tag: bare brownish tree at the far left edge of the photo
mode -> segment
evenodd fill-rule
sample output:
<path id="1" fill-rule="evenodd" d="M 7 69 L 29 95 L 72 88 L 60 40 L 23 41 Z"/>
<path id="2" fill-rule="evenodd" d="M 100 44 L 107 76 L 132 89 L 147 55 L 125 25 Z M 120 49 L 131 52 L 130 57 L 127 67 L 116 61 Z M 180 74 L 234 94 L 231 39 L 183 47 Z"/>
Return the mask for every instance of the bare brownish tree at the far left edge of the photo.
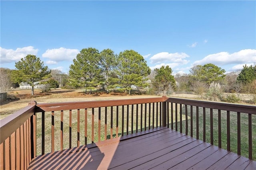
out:
<path id="1" fill-rule="evenodd" d="M 8 92 L 11 86 L 11 70 L 6 68 L 0 68 L 0 93 Z"/>

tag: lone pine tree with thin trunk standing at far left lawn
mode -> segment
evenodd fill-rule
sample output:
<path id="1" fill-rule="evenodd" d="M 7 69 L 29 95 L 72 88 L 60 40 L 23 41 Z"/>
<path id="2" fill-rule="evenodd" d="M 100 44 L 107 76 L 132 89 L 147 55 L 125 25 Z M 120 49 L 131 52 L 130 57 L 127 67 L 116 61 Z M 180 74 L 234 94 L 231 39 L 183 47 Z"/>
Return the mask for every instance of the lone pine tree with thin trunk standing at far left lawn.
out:
<path id="1" fill-rule="evenodd" d="M 40 60 L 36 55 L 27 55 L 21 61 L 15 63 L 16 79 L 20 82 L 28 83 L 32 86 L 31 95 L 34 96 L 34 83 L 50 77 L 51 71 L 47 66 L 44 66 L 44 62 Z"/>

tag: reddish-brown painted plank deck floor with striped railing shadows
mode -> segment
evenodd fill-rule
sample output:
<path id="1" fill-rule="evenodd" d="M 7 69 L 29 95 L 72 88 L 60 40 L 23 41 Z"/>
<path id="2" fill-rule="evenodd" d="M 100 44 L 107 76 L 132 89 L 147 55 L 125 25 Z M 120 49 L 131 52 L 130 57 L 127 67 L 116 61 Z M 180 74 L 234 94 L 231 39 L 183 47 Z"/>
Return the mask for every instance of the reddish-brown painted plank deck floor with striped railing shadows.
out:
<path id="1" fill-rule="evenodd" d="M 169 128 L 44 154 L 28 169 L 256 169 L 249 160 Z"/>

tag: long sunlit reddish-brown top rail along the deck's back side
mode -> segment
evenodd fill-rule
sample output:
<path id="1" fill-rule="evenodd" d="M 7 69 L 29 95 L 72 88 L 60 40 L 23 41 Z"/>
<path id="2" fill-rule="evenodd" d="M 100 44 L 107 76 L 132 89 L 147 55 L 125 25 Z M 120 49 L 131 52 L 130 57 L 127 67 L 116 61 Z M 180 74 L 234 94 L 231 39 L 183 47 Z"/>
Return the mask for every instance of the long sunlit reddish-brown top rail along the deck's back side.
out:
<path id="1" fill-rule="evenodd" d="M 72 109 L 88 109 L 96 107 L 110 107 L 120 105 L 133 105 L 141 103 L 163 102 L 164 97 L 143 98 L 143 99 L 119 99 L 119 100 L 102 100 L 102 101 L 79 101 L 79 102 L 62 102 L 62 103 L 41 103 L 36 105 L 36 112 L 42 111 L 64 111 Z"/>

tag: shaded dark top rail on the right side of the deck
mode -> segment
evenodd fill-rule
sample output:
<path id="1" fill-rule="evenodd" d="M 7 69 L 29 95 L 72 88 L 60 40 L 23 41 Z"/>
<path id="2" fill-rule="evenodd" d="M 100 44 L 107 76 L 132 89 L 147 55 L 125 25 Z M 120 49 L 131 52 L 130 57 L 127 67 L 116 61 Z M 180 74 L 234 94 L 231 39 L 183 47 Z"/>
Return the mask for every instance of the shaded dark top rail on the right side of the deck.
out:
<path id="1" fill-rule="evenodd" d="M 201 101 L 201 100 L 194 100 L 194 99 L 182 99 L 182 98 L 172 98 L 172 97 L 166 97 L 165 101 L 180 103 L 184 105 L 192 105 L 192 106 L 205 107 L 210 109 L 220 109 L 225 111 L 234 111 L 234 112 L 240 112 L 240 113 L 250 113 L 250 114 L 256 115 L 256 106 L 254 105 L 239 105 L 234 103 Z"/>

